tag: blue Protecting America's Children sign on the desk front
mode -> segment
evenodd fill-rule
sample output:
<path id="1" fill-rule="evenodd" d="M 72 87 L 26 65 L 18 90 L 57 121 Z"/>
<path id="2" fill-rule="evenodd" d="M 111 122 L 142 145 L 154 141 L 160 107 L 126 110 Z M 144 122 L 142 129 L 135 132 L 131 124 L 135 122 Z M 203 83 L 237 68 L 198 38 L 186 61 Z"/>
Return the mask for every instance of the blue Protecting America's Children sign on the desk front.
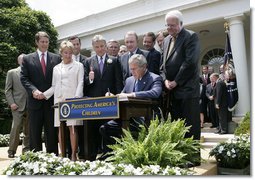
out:
<path id="1" fill-rule="evenodd" d="M 119 118 L 117 96 L 70 99 L 59 102 L 60 120 L 91 120 Z"/>

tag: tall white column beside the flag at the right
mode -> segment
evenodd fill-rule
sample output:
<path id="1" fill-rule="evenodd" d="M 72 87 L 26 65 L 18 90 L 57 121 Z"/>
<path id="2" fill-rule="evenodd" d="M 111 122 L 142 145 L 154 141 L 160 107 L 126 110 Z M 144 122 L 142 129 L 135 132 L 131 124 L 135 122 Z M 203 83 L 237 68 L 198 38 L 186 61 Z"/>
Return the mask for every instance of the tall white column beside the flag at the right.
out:
<path id="1" fill-rule="evenodd" d="M 250 88 L 246 59 L 245 36 L 243 28 L 243 14 L 225 18 L 229 23 L 229 36 L 233 61 L 236 70 L 239 100 L 235 109 L 235 116 L 244 116 L 250 111 Z"/>

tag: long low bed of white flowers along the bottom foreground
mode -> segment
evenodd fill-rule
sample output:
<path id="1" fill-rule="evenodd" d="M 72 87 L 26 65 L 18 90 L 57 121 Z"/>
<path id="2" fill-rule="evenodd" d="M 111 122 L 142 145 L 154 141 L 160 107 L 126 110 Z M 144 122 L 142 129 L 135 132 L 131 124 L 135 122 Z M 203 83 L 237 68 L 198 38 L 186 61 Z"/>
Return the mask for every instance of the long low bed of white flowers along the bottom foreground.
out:
<path id="1" fill-rule="evenodd" d="M 192 175 L 179 167 L 161 168 L 158 165 L 134 167 L 104 161 L 73 162 L 45 152 L 26 152 L 4 171 L 4 175 Z"/>

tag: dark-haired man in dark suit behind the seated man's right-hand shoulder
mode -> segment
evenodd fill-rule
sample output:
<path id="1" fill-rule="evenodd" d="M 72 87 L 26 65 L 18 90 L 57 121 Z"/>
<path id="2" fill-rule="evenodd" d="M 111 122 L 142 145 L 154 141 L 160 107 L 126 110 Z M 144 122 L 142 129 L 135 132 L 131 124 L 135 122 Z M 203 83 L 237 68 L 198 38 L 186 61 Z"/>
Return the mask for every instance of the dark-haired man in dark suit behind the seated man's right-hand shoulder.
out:
<path id="1" fill-rule="evenodd" d="M 143 36 L 143 46 L 149 51 L 146 60 L 148 70 L 155 74 L 159 74 L 159 64 L 161 61 L 161 54 L 155 48 L 156 35 L 153 32 L 147 32 Z"/>

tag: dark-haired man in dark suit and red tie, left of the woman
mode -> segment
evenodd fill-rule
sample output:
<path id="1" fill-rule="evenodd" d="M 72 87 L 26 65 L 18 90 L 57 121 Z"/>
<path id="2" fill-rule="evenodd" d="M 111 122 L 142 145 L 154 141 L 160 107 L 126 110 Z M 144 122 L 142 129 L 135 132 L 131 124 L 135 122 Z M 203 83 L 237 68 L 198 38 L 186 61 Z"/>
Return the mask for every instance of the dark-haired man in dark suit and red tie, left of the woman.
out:
<path id="1" fill-rule="evenodd" d="M 24 56 L 20 80 L 28 93 L 30 150 L 42 151 L 42 129 L 48 153 L 58 155 L 57 129 L 54 127 L 53 97 L 40 99 L 40 94 L 51 87 L 53 67 L 61 62 L 60 56 L 48 52 L 46 32 L 35 35 L 37 51 Z"/>

